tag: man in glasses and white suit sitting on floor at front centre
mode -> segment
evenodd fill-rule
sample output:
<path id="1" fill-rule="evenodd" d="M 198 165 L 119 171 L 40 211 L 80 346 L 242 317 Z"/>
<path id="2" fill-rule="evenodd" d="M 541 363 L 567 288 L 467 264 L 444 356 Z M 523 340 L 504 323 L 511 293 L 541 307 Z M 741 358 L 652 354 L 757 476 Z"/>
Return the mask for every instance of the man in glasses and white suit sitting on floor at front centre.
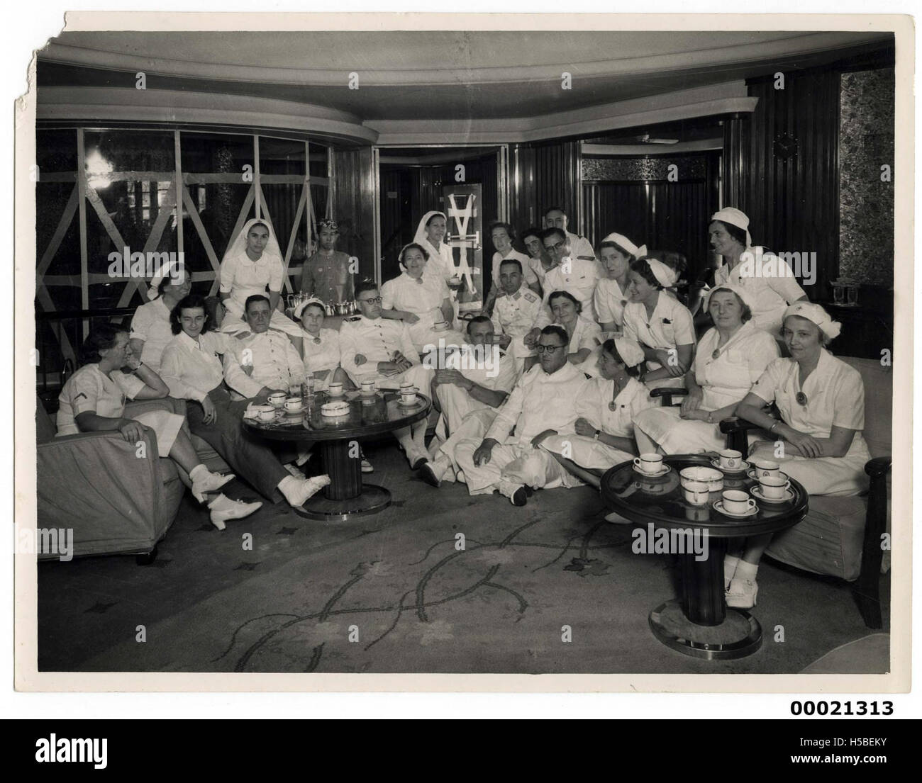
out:
<path id="1" fill-rule="evenodd" d="M 471 495 L 498 490 L 514 506 L 525 506 L 528 487 L 576 486 L 548 451 L 539 449 L 550 435 L 575 433 L 576 400 L 585 375 L 567 361 L 569 338 L 560 326 L 541 330 L 538 364 L 515 384 L 481 442 L 464 440 L 455 458 Z M 515 434 L 510 435 L 515 428 Z"/>

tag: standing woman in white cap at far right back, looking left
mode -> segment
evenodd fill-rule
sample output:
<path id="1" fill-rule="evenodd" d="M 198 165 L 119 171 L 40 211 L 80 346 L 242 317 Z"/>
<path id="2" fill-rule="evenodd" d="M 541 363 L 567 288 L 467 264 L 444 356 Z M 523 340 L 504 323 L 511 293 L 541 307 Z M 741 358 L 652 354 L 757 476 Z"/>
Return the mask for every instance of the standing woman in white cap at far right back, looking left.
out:
<path id="1" fill-rule="evenodd" d="M 777 338 L 786 306 L 809 298 L 783 259 L 752 247 L 749 222 L 749 217 L 733 206 L 711 216 L 711 247 L 724 258 L 714 283 L 715 287 L 732 283 L 746 288 L 752 298 L 753 325 Z"/>

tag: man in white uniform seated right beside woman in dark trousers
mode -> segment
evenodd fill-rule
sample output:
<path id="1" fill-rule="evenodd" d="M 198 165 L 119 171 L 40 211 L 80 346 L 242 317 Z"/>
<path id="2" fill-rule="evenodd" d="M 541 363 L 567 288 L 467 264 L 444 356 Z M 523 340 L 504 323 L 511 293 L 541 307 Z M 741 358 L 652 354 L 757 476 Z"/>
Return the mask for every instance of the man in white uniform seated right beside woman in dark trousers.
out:
<path id="1" fill-rule="evenodd" d="M 224 380 L 231 396 L 265 400 L 272 392 L 288 394 L 291 386 L 301 386 L 304 363 L 288 335 L 270 328 L 268 297 L 248 297 L 243 317 L 250 329 L 234 334 L 233 356 L 224 356 Z"/>

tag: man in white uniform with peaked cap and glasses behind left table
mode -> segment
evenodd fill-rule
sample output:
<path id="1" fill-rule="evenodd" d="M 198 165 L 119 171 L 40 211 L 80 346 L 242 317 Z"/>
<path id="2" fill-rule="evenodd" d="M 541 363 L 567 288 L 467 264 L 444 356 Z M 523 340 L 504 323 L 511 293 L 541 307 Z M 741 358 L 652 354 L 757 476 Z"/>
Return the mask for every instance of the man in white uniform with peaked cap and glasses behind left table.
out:
<path id="1" fill-rule="evenodd" d="M 362 380 L 374 380 L 378 389 L 399 389 L 402 380 L 409 380 L 423 394 L 429 391 L 432 370 L 420 364 L 420 355 L 413 347 L 403 321 L 388 321 L 381 317 L 381 294 L 372 280 L 364 280 L 355 288 L 361 316 L 356 321 L 344 321 L 339 329 L 339 350 L 342 368 L 357 386 Z M 407 453 L 413 470 L 429 461 L 426 455 L 426 420 L 411 427 L 394 431 L 397 441 Z"/>

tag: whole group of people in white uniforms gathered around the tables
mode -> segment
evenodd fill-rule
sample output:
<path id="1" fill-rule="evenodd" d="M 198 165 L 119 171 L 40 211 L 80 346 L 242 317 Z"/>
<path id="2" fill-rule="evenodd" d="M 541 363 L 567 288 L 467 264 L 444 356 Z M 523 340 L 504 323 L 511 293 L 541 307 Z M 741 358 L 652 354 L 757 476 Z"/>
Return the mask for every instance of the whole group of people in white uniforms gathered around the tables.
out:
<path id="1" fill-rule="evenodd" d="M 321 390 L 363 380 L 396 389 L 409 380 L 430 393 L 436 437 L 427 445 L 426 422 L 395 433 L 409 466 L 433 487 L 461 481 L 471 495 L 499 491 L 515 506 L 538 488 L 598 485 L 638 453 L 720 450 L 719 423 L 731 415 L 762 427 L 768 439 L 753 442 L 753 456 L 767 450 L 811 495 L 866 488 L 861 378 L 826 348 L 839 324 L 780 259 L 774 276 L 748 273 L 745 260 L 767 251 L 752 247 L 739 209 L 721 209 L 709 224 L 724 265 L 703 300 L 714 325 L 700 340 L 676 296 L 677 254 L 617 233 L 593 249 L 557 207 L 545 228 L 523 232 L 527 252 L 515 250 L 511 225 L 491 226 L 497 250 L 484 314 L 461 320 L 455 291 L 470 284 L 470 270 L 455 265 L 446 228 L 443 213 L 423 216 L 400 251 L 400 275 L 356 284 L 360 314 L 337 331 L 325 327 L 319 298 L 301 302 L 292 318 L 279 309 L 278 241 L 268 221 L 248 221 L 221 263 L 224 317 L 190 293 L 187 277 L 152 281 L 130 334 L 90 334 L 90 360 L 61 392 L 59 432 L 118 429 L 134 438 L 151 427 L 219 526 L 261 504 L 216 494 L 230 479 L 197 462 L 186 429 L 263 497 L 301 505 L 329 479 L 305 478 L 308 453 L 270 450 L 244 434 L 241 420 L 249 403 L 308 376 Z M 432 360 L 444 346 L 454 351 Z M 659 406 L 650 392 L 663 386 L 680 405 Z M 184 421 L 122 415 L 126 397 L 168 394 L 186 401 Z M 765 413 L 769 403 L 781 419 Z M 729 605 L 754 604 L 768 540 L 740 541 L 727 555 Z"/>

